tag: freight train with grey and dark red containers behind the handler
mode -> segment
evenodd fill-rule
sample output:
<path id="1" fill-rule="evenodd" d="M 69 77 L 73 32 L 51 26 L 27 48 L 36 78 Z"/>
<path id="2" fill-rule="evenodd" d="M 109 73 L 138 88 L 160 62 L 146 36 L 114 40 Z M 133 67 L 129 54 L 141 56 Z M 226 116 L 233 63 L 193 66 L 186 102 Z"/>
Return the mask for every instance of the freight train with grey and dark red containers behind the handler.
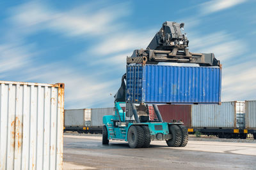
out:
<path id="1" fill-rule="evenodd" d="M 253 134 L 256 139 L 256 101 L 231 101 L 220 105 L 164 104 L 158 105 L 158 108 L 164 122 L 183 122 L 189 134 L 200 132 L 219 138 L 241 139 Z M 114 108 L 65 110 L 64 132 L 102 133 L 102 117 L 114 114 Z M 150 120 L 157 118 L 150 105 L 147 114 Z"/>

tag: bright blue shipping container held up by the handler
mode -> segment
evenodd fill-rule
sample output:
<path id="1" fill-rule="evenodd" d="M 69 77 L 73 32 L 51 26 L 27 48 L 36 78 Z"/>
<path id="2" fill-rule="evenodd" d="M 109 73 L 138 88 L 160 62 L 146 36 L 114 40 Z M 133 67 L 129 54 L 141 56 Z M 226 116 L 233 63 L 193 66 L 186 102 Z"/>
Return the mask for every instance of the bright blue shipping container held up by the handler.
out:
<path id="1" fill-rule="evenodd" d="M 130 103 L 218 103 L 220 67 L 127 66 L 126 101 Z"/>

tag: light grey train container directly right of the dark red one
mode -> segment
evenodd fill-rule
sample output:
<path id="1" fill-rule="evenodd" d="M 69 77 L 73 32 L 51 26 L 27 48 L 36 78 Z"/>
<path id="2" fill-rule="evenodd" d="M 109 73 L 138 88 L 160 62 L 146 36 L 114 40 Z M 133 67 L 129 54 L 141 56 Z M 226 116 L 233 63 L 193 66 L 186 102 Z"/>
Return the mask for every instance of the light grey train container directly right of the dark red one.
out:
<path id="1" fill-rule="evenodd" d="M 191 106 L 191 127 L 236 128 L 236 102 Z"/>

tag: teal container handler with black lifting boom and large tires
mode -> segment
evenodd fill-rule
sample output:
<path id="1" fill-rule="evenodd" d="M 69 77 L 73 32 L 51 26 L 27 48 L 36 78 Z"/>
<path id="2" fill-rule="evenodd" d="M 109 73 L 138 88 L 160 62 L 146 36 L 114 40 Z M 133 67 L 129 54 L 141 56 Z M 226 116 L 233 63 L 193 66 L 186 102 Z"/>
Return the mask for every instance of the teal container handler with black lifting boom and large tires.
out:
<path id="1" fill-rule="evenodd" d="M 158 64 L 159 62 L 193 63 L 199 66 L 221 67 L 220 61 L 213 53 L 191 53 L 188 49 L 188 38 L 183 33 L 184 23 L 164 22 L 146 50 L 134 50 L 127 57 L 129 64 Z M 157 105 L 153 104 L 157 119 L 149 120 L 146 115 L 138 115 L 134 103 L 126 100 L 126 75 L 115 95 L 115 115 L 103 117 L 102 144 L 107 145 L 110 139 L 127 141 L 131 148 L 148 148 L 151 141 L 166 141 L 168 146 L 184 147 L 188 143 L 188 130 L 182 122 L 163 122 Z M 126 112 L 120 104 L 126 104 Z M 150 103 L 147 103 L 150 104 Z M 141 106 L 147 110 L 147 104 Z M 167 103 L 168 104 L 168 103 Z"/>

